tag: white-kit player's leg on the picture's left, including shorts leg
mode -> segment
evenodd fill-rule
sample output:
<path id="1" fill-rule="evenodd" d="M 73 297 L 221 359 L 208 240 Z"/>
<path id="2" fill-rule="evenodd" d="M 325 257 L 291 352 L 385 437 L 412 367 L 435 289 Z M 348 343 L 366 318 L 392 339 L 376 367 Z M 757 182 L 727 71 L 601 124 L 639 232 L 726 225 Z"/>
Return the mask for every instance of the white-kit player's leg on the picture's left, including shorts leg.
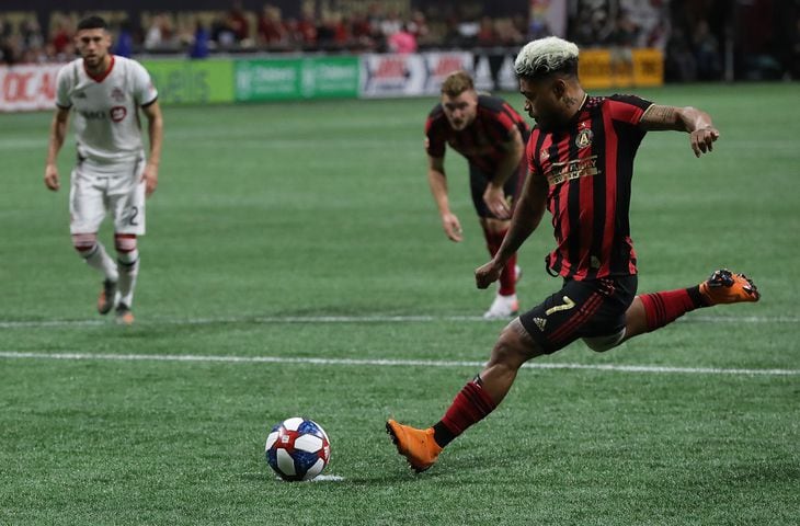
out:
<path id="1" fill-rule="evenodd" d="M 98 240 L 100 224 L 105 217 L 102 180 L 83 168 L 76 168 L 70 176 L 69 231 L 72 245 L 87 264 L 103 274 L 103 286 L 98 297 L 98 312 L 107 313 L 114 306 L 118 273 L 114 260 Z"/>

